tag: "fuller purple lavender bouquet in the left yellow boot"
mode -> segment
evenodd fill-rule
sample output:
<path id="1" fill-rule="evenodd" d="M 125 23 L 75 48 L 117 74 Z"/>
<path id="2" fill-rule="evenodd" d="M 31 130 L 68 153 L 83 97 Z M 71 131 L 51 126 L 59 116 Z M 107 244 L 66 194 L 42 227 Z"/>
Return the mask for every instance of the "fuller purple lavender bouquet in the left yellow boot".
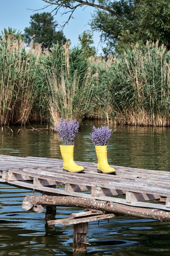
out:
<path id="1" fill-rule="evenodd" d="M 79 130 L 79 122 L 77 119 L 63 119 L 60 118 L 60 123 L 54 124 L 55 131 L 60 136 L 59 141 L 62 141 L 63 145 L 74 145 L 75 137 Z"/>

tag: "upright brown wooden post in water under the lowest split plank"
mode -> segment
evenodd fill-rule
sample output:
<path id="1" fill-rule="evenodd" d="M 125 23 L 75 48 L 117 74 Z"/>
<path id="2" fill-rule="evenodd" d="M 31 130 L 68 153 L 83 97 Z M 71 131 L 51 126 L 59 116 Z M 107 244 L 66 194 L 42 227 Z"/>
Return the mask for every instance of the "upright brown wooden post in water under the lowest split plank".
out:
<path id="1" fill-rule="evenodd" d="M 73 256 L 85 256 L 86 255 L 87 232 L 88 232 L 88 222 L 74 224 Z"/>

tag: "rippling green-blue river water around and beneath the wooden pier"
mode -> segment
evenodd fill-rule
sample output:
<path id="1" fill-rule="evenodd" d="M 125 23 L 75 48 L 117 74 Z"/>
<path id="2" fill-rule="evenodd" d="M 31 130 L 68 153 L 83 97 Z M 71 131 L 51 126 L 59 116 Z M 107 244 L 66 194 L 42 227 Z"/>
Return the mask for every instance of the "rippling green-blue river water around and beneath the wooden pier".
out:
<path id="1" fill-rule="evenodd" d="M 77 161 L 96 162 L 90 137 L 96 121 L 84 121 L 75 141 Z M 58 135 L 47 124 L 7 127 L 0 131 L 0 154 L 61 159 Z M 49 125 L 48 125 L 49 126 Z M 41 128 L 41 130 L 36 130 Z M 108 162 L 117 166 L 170 171 L 170 128 L 113 126 L 108 143 Z M 35 194 L 39 194 L 36 193 Z M 22 209 L 22 201 L 32 191 L 0 184 L 0 255 L 70 256 L 73 226 L 45 228 L 45 213 Z M 82 211 L 77 207 L 57 207 L 56 218 Z M 88 256 L 169 256 L 170 222 L 122 216 L 88 225 Z"/>

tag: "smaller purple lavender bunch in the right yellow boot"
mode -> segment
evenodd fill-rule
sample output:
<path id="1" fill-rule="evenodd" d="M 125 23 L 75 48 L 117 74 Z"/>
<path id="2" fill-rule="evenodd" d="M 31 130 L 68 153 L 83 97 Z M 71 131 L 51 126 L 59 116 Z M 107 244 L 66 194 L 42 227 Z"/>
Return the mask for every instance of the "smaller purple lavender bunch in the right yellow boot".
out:
<path id="1" fill-rule="evenodd" d="M 109 129 L 108 126 L 100 126 L 100 128 L 96 128 L 93 126 L 93 132 L 91 133 L 91 140 L 95 146 L 106 146 L 110 136 L 112 133 L 112 129 Z"/>

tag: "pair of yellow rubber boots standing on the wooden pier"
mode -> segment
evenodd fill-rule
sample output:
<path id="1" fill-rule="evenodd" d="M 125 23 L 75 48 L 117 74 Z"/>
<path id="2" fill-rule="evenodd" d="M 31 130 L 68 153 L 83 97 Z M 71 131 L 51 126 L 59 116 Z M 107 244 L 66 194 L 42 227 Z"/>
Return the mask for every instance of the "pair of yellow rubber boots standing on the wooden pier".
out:
<path id="1" fill-rule="evenodd" d="M 116 170 L 109 166 L 107 159 L 107 146 L 95 146 L 97 155 L 97 171 L 98 173 L 115 174 Z M 60 145 L 60 151 L 63 159 L 63 171 L 71 173 L 80 173 L 84 171 L 83 166 L 79 166 L 74 162 L 74 145 L 63 146 Z"/>

